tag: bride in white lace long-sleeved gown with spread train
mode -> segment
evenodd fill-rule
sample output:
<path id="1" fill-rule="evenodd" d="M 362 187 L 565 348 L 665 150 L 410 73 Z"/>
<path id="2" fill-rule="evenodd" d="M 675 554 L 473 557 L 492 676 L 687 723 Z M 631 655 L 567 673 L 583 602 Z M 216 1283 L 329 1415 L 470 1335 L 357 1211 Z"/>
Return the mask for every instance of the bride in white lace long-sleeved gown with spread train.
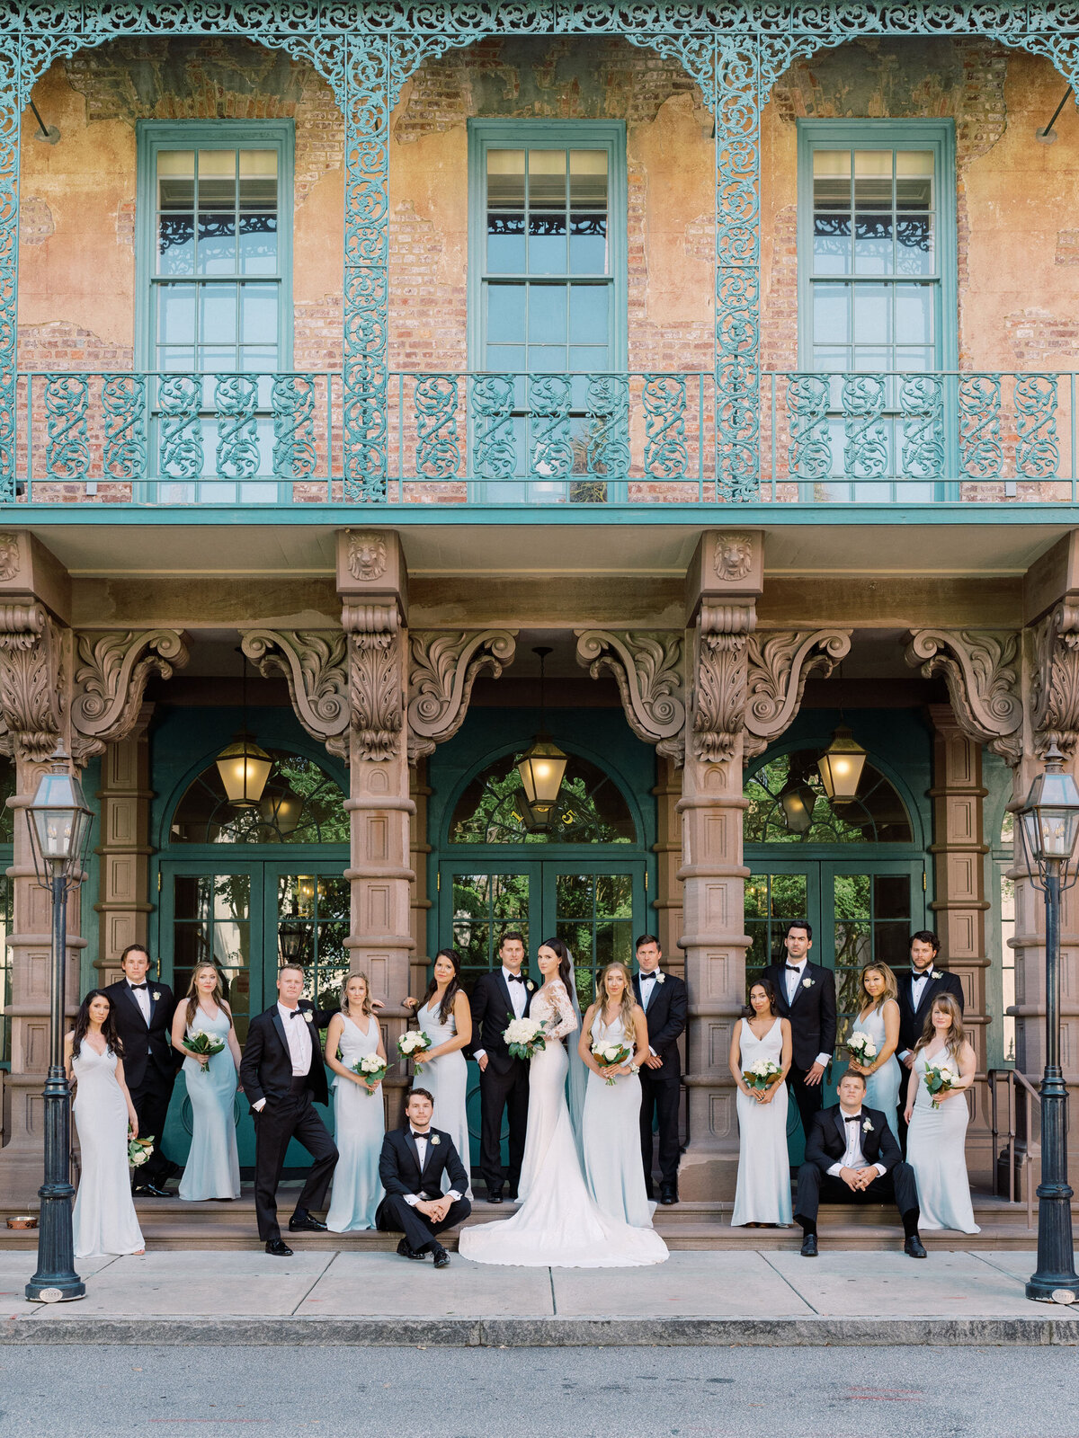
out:
<path id="1" fill-rule="evenodd" d="M 476 1263 L 528 1268 L 637 1268 L 663 1263 L 668 1250 L 659 1234 L 607 1218 L 588 1194 L 565 1102 L 568 1058 L 563 1040 L 580 1025 L 570 998 L 570 952 L 560 939 L 548 939 L 540 946 L 538 963 L 544 985 L 532 997 L 529 1018 L 542 1022 L 547 1045 L 528 1071 L 524 1201 L 512 1218 L 463 1228 L 460 1254 Z"/>

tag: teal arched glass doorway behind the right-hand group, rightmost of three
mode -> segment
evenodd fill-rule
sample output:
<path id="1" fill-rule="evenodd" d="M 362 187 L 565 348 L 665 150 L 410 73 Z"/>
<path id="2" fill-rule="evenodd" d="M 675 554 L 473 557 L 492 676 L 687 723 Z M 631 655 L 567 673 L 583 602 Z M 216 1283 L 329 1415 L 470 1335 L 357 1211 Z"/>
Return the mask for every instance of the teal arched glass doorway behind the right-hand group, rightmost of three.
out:
<path id="1" fill-rule="evenodd" d="M 901 778 L 875 755 L 857 798 L 833 804 L 817 772 L 819 748 L 770 751 L 745 781 L 747 974 L 783 955 L 790 919 L 813 926 L 813 959 L 836 971 L 842 1045 L 856 1015 L 859 972 L 870 959 L 903 968 L 908 939 L 927 926 L 921 818 Z M 806 785 L 809 825 L 790 827 L 781 795 Z M 801 825 L 798 825 L 801 827 Z M 842 1071 L 842 1064 L 833 1066 Z M 797 1109 L 791 1104 L 791 1129 Z M 800 1142 L 798 1142 L 800 1149 Z M 793 1153 L 793 1158 L 797 1155 Z"/>

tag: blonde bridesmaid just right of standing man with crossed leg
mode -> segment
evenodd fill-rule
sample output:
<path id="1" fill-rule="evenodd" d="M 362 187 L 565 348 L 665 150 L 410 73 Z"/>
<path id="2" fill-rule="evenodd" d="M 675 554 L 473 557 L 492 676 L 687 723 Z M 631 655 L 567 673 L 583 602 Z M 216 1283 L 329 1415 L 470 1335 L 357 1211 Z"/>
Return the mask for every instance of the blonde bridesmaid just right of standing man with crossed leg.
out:
<path id="1" fill-rule="evenodd" d="M 368 1054 L 386 1060 L 381 1024 L 371 1012 L 365 974 L 350 974 L 341 995 L 341 1012 L 327 1031 L 325 1058 L 334 1078 L 334 1142 L 341 1155 L 334 1169 L 327 1228 L 348 1234 L 375 1227 L 375 1209 L 383 1201 L 378 1155 L 386 1133 L 386 1104 L 381 1080 L 368 1083 L 352 1068 Z"/>

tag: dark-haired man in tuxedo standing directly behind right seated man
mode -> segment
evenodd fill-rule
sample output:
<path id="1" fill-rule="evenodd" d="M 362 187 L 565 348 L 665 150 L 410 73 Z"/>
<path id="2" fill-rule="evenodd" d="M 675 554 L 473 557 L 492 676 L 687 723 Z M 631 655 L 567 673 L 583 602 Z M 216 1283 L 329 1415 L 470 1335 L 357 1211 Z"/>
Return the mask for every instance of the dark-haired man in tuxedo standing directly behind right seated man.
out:
<path id="1" fill-rule="evenodd" d="M 775 989 L 780 1018 L 790 1020 L 794 1063 L 787 1086 L 801 1114 L 801 1129 L 809 1139 L 813 1117 L 824 1099 L 824 1070 L 836 1047 L 836 975 L 810 963 L 813 929 L 804 919 L 791 919 L 784 939 L 786 963 L 771 963 L 762 974 Z"/>

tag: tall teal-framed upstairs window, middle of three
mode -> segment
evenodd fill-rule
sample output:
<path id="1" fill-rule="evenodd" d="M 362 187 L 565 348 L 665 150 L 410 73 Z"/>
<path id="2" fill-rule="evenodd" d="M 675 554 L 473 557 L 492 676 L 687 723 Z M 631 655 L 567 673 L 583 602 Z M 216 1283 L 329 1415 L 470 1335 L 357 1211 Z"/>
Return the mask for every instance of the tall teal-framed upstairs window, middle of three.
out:
<path id="1" fill-rule="evenodd" d="M 473 473 L 496 502 L 609 498 L 588 377 L 626 364 L 624 127 L 470 121 L 469 145 Z"/>

